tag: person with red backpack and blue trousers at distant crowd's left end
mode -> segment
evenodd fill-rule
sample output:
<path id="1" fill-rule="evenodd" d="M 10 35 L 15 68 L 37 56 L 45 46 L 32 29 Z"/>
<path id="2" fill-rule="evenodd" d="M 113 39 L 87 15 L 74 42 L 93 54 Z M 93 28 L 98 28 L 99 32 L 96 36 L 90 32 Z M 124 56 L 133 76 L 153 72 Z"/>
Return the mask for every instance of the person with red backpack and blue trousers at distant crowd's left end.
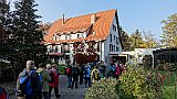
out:
<path id="1" fill-rule="evenodd" d="M 72 66 L 71 65 L 66 68 L 65 74 L 67 76 L 67 88 L 71 88 L 72 86 Z"/>

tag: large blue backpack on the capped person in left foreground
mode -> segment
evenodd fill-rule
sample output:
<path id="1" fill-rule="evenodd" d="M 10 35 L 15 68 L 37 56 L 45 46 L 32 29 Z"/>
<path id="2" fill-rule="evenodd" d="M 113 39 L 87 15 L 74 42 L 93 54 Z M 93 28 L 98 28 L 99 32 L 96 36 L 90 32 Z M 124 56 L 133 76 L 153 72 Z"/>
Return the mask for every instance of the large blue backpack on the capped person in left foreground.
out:
<path id="1" fill-rule="evenodd" d="M 24 76 L 19 77 L 19 81 L 20 81 L 19 90 L 21 91 L 19 95 L 32 96 L 32 92 L 33 92 L 32 82 L 31 82 L 32 73 L 34 73 L 34 70 L 30 70 L 30 73 L 27 73 L 25 70 L 22 72 Z"/>

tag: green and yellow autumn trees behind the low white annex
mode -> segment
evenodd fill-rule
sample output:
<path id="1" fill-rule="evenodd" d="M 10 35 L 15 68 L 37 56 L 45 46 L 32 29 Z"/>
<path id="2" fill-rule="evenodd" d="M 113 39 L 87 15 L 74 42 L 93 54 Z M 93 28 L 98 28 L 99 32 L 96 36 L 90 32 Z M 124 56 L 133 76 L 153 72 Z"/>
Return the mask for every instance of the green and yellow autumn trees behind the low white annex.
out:
<path id="1" fill-rule="evenodd" d="M 150 31 L 136 30 L 131 35 L 125 31 L 121 32 L 123 51 L 134 51 L 135 48 L 155 48 L 159 46 L 158 40 Z"/>

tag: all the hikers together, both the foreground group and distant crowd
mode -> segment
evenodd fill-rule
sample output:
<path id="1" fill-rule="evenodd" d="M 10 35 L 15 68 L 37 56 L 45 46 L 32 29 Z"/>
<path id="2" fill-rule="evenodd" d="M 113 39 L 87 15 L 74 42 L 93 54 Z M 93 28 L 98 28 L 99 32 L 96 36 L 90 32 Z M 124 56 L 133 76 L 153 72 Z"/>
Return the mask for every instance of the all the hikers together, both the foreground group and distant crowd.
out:
<path id="1" fill-rule="evenodd" d="M 34 66 L 34 61 L 28 61 L 25 68 L 19 74 L 15 91 L 18 99 L 50 99 L 52 89 L 54 89 L 55 97 L 60 98 L 60 70 L 56 65 L 40 64 L 38 67 Z M 125 69 L 125 65 L 118 61 L 110 65 L 104 64 L 103 61 L 85 65 L 70 64 L 65 68 L 67 87 L 71 89 L 79 88 L 79 84 L 84 84 L 85 88 L 92 87 L 92 84 L 104 77 L 118 79 Z M 3 92 L 2 89 L 0 89 L 0 92 Z M 6 97 L 4 94 L 1 97 Z"/>

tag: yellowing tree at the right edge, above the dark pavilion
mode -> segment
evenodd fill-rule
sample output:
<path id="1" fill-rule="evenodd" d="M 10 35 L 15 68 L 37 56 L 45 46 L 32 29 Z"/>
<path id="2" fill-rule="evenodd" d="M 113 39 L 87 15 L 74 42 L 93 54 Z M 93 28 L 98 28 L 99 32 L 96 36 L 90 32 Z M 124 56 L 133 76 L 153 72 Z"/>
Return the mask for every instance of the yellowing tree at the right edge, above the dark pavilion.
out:
<path id="1" fill-rule="evenodd" d="M 163 20 L 162 23 L 164 33 L 160 42 L 166 47 L 177 47 L 177 13 Z"/>

